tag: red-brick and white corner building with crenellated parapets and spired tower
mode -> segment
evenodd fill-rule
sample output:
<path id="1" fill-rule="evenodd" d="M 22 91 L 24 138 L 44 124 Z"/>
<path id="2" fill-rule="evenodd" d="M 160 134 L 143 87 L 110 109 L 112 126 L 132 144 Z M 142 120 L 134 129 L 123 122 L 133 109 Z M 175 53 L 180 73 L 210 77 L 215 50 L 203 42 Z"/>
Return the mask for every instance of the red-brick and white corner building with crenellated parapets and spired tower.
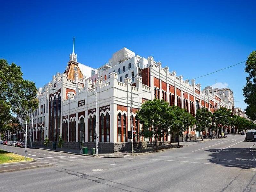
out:
<path id="1" fill-rule="evenodd" d="M 139 136 L 142 125 L 135 119 L 136 112 L 147 100 L 163 99 L 170 105 L 186 109 L 193 116 L 199 108 L 207 108 L 212 113 L 220 106 L 234 108 L 233 102 L 222 100 L 211 87 L 202 90 L 195 80 L 190 84 L 175 71 L 170 72 L 169 67 L 162 67 L 162 63 L 154 61 L 153 57 L 143 58 L 127 48 L 114 53 L 109 62 L 98 69 L 78 63 L 73 52 L 65 72 L 54 75 L 51 82 L 38 89 L 36 97 L 39 107 L 30 114 L 29 124 L 31 140 L 36 141 L 36 145 L 43 145 L 46 136 L 51 142 L 58 142 L 61 135 L 65 141 L 63 148 L 92 148 L 95 147 L 97 127 L 99 153 L 131 148 L 128 140 L 131 119 L 132 129 L 136 131 L 135 148 L 149 145 L 152 140 Z M 19 139 L 22 139 L 25 125 L 22 127 L 16 133 Z M 204 132 L 209 133 L 210 130 Z M 199 136 L 200 133 L 191 127 L 182 137 L 173 132 L 159 139 L 176 142 Z"/>

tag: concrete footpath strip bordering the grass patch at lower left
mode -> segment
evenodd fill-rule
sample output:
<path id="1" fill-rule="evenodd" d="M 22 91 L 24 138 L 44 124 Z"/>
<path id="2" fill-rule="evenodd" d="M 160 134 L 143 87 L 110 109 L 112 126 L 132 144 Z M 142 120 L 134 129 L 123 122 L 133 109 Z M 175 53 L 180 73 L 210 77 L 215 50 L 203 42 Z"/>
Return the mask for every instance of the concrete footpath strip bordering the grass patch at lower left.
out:
<path id="1" fill-rule="evenodd" d="M 49 166 L 52 166 L 52 164 L 41 163 L 41 162 L 17 162 L 17 163 L 12 163 L 12 164 L 0 165 L 0 173 L 20 171 L 20 170 L 25 170 L 25 169 L 35 169 L 35 168 L 49 167 Z"/>

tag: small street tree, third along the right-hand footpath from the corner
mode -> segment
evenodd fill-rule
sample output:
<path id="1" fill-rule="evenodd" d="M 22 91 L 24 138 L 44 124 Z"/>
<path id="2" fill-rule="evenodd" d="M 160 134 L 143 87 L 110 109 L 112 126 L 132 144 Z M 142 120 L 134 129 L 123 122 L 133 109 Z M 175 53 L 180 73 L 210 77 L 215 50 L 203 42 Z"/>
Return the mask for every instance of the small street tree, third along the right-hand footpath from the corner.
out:
<path id="1" fill-rule="evenodd" d="M 201 139 L 203 141 L 203 131 L 211 127 L 212 113 L 206 108 L 198 109 L 196 111 L 196 130 L 201 132 Z"/>

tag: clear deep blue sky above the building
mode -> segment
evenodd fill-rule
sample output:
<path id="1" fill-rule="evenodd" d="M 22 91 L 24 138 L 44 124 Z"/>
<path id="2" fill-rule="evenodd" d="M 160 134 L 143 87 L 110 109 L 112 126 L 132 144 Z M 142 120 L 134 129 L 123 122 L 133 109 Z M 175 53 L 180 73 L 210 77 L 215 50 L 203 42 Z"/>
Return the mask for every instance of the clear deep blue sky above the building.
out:
<path id="1" fill-rule="evenodd" d="M 76 37 L 80 63 L 97 68 L 117 50 L 161 61 L 192 79 L 247 59 L 256 50 L 256 1 L 4 1 L 0 58 L 36 86 L 64 72 Z M 244 100 L 244 64 L 196 79 Z M 244 102 L 236 102 L 244 109 Z"/>

